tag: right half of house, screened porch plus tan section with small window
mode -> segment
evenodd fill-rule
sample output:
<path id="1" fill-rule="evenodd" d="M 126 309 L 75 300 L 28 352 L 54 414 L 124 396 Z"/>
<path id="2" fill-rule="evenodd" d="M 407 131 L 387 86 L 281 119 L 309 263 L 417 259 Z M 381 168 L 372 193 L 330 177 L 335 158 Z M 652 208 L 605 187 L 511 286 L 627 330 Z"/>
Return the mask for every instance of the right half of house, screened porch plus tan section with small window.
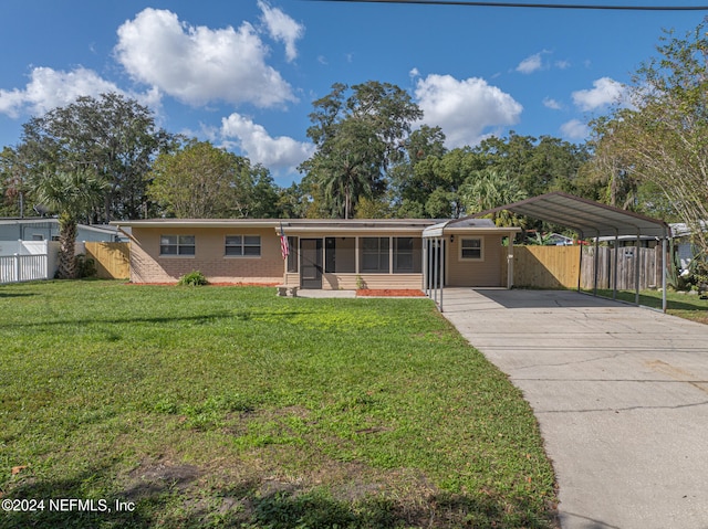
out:
<path id="1" fill-rule="evenodd" d="M 284 229 L 290 252 L 283 284 L 300 292 L 511 286 L 513 245 L 504 251 L 503 242 L 513 241 L 518 228 L 487 219 L 431 222 L 292 222 Z"/>

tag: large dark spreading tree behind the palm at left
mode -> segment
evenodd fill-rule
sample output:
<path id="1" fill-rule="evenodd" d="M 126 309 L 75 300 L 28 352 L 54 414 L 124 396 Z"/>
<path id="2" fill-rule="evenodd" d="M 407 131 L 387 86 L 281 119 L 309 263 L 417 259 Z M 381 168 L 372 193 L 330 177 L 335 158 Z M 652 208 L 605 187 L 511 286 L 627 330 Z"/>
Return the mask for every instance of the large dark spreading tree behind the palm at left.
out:
<path id="1" fill-rule="evenodd" d="M 86 169 L 101 176 L 108 183 L 102 215 L 107 222 L 146 214 L 146 174 L 173 142 L 147 107 L 110 93 L 32 117 L 18 149 L 35 174 Z"/>

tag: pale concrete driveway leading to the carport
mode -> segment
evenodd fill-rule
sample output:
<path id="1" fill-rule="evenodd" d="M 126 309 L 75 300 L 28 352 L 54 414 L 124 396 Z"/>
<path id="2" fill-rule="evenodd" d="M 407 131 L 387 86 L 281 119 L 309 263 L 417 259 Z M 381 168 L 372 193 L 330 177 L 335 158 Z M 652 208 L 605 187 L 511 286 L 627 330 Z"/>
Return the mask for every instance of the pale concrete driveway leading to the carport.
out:
<path id="1" fill-rule="evenodd" d="M 445 289 L 535 412 L 566 529 L 708 528 L 708 326 L 575 292 Z"/>

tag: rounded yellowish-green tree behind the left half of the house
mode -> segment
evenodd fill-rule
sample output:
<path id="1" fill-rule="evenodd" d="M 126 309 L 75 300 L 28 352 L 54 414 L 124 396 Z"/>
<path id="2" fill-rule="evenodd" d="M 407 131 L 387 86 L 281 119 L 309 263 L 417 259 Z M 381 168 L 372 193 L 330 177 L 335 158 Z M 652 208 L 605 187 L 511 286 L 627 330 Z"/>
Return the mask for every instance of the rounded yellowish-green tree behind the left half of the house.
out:
<path id="1" fill-rule="evenodd" d="M 247 158 L 190 140 L 162 154 L 149 173 L 148 195 L 178 219 L 278 216 L 279 194 L 268 170 Z"/>

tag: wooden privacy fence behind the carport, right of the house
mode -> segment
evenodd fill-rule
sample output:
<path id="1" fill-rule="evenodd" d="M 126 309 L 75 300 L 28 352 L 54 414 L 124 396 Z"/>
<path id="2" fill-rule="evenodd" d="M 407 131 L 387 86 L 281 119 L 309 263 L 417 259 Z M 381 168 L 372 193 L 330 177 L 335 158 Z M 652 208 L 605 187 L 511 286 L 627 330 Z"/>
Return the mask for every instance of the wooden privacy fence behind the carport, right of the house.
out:
<path id="1" fill-rule="evenodd" d="M 615 248 L 583 246 L 581 288 L 593 288 L 597 250 L 597 288 L 613 287 Z M 639 250 L 639 288 L 662 285 L 662 247 Z M 577 288 L 581 246 L 514 246 L 513 284 L 532 288 Z M 617 289 L 634 290 L 636 252 L 633 246 L 617 248 Z"/>

